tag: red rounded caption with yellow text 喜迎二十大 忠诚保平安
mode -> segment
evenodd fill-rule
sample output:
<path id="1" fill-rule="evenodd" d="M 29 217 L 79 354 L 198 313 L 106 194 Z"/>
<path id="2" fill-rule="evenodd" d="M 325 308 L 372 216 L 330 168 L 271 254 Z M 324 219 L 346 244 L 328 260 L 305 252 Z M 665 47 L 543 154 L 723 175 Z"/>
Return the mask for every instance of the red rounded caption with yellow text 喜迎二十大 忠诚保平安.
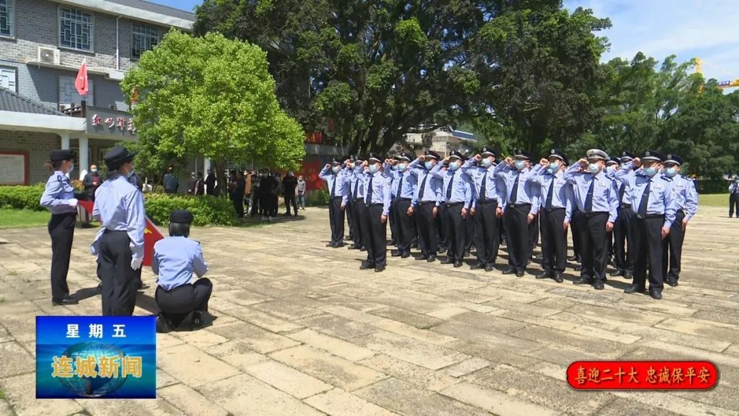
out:
<path id="1" fill-rule="evenodd" d="M 706 390 L 718 370 L 710 361 L 575 361 L 567 382 L 584 390 Z"/>

